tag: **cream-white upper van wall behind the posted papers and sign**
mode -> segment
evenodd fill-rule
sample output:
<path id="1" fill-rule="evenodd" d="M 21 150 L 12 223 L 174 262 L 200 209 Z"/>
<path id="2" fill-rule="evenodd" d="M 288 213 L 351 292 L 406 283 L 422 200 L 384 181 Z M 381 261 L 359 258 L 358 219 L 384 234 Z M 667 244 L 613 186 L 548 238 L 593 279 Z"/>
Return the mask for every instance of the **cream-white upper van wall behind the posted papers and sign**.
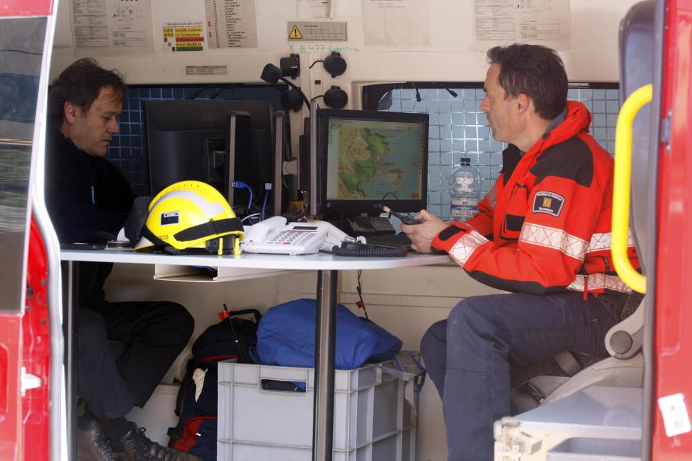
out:
<path id="1" fill-rule="evenodd" d="M 298 19 L 299 5 L 309 0 L 255 0 L 257 48 L 212 49 L 172 53 L 163 43 L 165 22 L 199 21 L 206 24 L 204 0 L 151 0 L 150 37 L 145 50 L 74 48 L 71 8 L 74 1 L 60 1 L 57 12 L 52 77 L 78 57 L 91 56 L 105 68 L 117 68 L 129 84 L 215 84 L 261 82 L 267 63 L 279 65 L 290 53 L 300 55 L 300 77 L 294 83 L 310 99 L 340 86 L 349 96 L 349 108 L 360 107 L 356 82 L 437 81 L 482 82 L 487 69 L 485 53 L 473 42 L 473 1 L 434 0 L 428 5 L 429 45 L 367 46 L 363 32 L 362 5 L 369 0 L 331 0 L 332 19 L 347 23 L 347 41 L 289 41 L 287 23 Z M 570 48 L 560 50 L 572 81 L 617 82 L 617 37 L 619 21 L 637 0 L 562 0 L 570 5 Z M 147 5 L 145 1 L 138 2 Z M 303 19 L 301 19 L 303 20 Z M 308 20 L 308 19 L 304 19 Z M 330 21 L 325 19 L 325 21 Z M 421 27 L 424 29 L 424 27 Z M 204 28 L 206 32 L 206 27 Z M 304 51 L 301 50 L 304 46 Z M 342 50 L 347 70 L 331 78 L 322 65 L 309 66 Z M 119 55 L 114 55 L 118 53 Z M 226 66 L 224 75 L 186 75 L 186 66 Z M 315 84 L 316 81 L 321 84 Z M 291 139 L 298 151 L 300 120 L 291 114 Z"/>

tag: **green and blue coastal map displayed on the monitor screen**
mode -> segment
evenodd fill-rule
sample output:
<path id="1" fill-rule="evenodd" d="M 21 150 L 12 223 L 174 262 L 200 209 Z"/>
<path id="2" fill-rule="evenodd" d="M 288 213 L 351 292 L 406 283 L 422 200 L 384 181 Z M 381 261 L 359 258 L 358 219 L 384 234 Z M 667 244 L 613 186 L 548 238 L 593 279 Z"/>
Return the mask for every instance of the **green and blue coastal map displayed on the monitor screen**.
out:
<path id="1" fill-rule="evenodd" d="M 420 198 L 423 130 L 420 123 L 331 118 L 327 199 Z"/>

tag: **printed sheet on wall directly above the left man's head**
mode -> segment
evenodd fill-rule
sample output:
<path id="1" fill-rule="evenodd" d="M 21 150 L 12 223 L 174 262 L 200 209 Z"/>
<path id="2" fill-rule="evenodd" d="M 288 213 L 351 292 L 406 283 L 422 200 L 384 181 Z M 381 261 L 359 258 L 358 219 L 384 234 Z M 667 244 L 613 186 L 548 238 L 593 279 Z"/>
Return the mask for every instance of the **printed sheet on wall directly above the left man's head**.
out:
<path id="1" fill-rule="evenodd" d="M 151 54 L 152 0 L 72 0 L 71 29 L 79 54 Z"/>

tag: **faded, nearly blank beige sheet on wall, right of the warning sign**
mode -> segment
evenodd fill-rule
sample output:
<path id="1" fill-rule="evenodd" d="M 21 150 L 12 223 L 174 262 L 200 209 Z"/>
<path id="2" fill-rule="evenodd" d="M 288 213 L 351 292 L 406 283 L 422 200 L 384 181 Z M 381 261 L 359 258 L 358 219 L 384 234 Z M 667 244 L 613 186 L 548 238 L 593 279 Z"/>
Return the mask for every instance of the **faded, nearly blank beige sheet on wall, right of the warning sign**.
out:
<path id="1" fill-rule="evenodd" d="M 430 45 L 427 0 L 362 0 L 366 45 Z"/>

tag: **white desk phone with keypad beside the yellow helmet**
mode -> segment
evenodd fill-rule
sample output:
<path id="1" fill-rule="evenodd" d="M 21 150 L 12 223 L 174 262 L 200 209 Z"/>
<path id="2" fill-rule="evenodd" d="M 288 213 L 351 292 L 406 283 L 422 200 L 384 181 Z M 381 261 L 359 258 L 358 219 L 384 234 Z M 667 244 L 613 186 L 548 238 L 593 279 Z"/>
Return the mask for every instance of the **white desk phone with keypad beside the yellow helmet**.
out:
<path id="1" fill-rule="evenodd" d="M 248 253 L 309 254 L 331 252 L 334 245 L 360 240 L 325 221 L 286 223 L 283 216 L 273 216 L 249 226 L 240 249 Z"/>

